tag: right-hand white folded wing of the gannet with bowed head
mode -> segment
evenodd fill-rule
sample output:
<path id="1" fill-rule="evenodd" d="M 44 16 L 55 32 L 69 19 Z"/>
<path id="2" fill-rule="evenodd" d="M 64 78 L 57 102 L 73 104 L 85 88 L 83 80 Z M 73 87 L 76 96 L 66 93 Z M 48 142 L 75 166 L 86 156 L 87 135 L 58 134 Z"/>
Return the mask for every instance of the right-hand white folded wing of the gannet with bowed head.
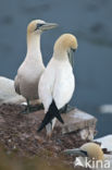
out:
<path id="1" fill-rule="evenodd" d="M 67 70 L 67 71 L 66 71 Z M 53 99 L 58 109 L 63 108 L 72 98 L 75 88 L 75 78 L 71 68 L 63 69 L 57 73 L 57 80 L 53 89 Z"/>

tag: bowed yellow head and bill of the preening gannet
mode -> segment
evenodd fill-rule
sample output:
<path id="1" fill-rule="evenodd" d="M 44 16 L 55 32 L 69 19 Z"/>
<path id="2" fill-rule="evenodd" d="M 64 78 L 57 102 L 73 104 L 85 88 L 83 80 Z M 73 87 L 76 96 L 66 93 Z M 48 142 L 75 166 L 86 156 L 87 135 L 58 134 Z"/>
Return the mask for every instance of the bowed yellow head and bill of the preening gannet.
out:
<path id="1" fill-rule="evenodd" d="M 77 39 L 72 34 L 61 35 L 54 44 L 54 53 L 57 57 L 64 57 L 67 53 L 71 65 L 74 64 L 73 51 L 77 49 Z"/>

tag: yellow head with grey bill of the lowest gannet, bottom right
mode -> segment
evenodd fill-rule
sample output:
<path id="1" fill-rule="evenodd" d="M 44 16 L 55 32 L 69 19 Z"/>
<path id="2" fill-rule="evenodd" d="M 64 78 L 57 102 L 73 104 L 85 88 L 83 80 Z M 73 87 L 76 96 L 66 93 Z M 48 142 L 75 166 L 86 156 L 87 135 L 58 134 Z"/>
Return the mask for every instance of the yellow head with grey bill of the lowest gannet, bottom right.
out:
<path id="1" fill-rule="evenodd" d="M 80 148 L 66 149 L 65 154 L 88 157 L 89 159 L 103 160 L 104 155 L 101 147 L 95 143 L 86 143 Z"/>

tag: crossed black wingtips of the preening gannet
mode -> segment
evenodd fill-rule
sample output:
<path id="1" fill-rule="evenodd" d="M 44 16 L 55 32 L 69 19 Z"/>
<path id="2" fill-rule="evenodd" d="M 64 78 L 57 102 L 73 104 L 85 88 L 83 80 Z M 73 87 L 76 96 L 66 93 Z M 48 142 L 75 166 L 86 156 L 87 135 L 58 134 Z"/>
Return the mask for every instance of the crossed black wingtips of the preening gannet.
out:
<path id="1" fill-rule="evenodd" d="M 37 132 L 40 132 L 48 123 L 52 121 L 53 118 L 57 118 L 61 123 L 64 123 L 62 117 L 60 116 L 60 111 L 58 110 L 54 101 L 49 107 L 49 111 L 46 113 L 42 123 L 40 124 Z"/>

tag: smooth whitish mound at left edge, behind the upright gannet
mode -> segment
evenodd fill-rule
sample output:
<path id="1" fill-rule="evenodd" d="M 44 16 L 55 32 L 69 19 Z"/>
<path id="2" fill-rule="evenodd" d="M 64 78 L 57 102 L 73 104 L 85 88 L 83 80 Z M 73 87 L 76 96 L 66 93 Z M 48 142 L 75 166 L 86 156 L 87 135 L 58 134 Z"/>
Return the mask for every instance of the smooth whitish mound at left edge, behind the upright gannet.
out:
<path id="1" fill-rule="evenodd" d="M 17 95 L 14 89 L 14 81 L 0 76 L 0 105 L 21 104 L 25 98 Z"/>

